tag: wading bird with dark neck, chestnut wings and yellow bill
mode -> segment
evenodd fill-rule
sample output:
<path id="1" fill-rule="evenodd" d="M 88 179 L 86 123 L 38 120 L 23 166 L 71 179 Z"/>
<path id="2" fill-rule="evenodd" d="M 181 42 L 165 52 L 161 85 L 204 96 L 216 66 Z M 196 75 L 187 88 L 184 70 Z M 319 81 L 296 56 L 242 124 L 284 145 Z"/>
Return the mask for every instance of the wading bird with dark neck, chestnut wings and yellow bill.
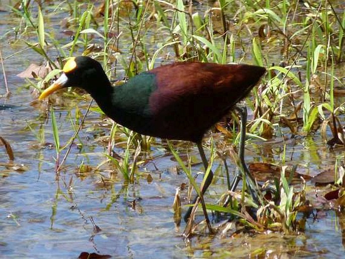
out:
<path id="1" fill-rule="evenodd" d="M 113 87 L 97 60 L 77 56 L 67 59 L 61 76 L 39 100 L 61 88 L 80 87 L 108 117 L 136 133 L 195 143 L 206 170 L 204 134 L 249 94 L 265 72 L 248 64 L 173 62 Z M 212 179 L 211 171 L 202 194 Z"/>

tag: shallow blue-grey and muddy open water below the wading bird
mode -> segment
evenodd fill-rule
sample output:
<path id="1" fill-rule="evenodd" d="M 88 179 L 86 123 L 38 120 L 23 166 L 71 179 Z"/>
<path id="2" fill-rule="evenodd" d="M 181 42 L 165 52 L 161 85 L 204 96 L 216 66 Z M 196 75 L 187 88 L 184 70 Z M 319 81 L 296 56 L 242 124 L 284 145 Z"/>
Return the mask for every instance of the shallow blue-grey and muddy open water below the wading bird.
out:
<path id="1" fill-rule="evenodd" d="M 0 7 L 6 9 L 3 4 Z M 0 16 L 0 35 L 4 35 L 13 25 L 4 23 L 10 20 L 9 12 Z M 45 119 L 47 107 L 37 103 L 32 88 L 25 88 L 25 81 L 16 76 L 30 63 L 40 63 L 42 58 L 32 50 L 9 57 L 25 47 L 13 47 L 7 42 L 9 38 L 13 39 L 5 37 L 0 42 L 3 57 L 8 57 L 4 66 L 12 92 L 5 97 L 1 74 L 0 136 L 10 143 L 18 166 L 8 163 L 5 148 L 0 146 L 0 257 L 76 258 L 84 251 L 115 258 L 248 257 L 262 254 L 260 251 L 272 257 L 344 256 L 344 215 L 331 210 L 319 213 L 316 220 L 309 218 L 305 231 L 296 235 L 196 236 L 186 246 L 181 237 L 185 224 L 175 226 L 172 213 L 175 189 L 187 182 L 186 176 L 176 170 L 170 152 L 158 140 L 149 154 L 150 162 L 139 167 L 134 183 L 125 184 L 121 174 L 115 173 L 114 181 L 104 184 L 103 176 L 108 177 L 112 168 L 109 165 L 96 168 L 106 159 L 106 145 L 98 140 L 109 134 L 110 123 L 96 111 L 88 114 L 79 134 L 78 143 L 82 145 L 72 147 L 65 167 L 56 175 L 51 121 Z M 87 104 L 83 100 L 78 102 L 83 114 Z M 74 134 L 71 118 L 78 121 L 76 107 L 57 104 L 55 116 L 60 142 L 66 143 Z M 44 140 L 37 137 L 40 129 Z M 222 138 L 215 136 L 219 142 Z M 197 149 L 191 144 L 175 145 L 181 154 L 188 153 L 199 161 Z M 279 164 L 283 159 L 282 147 L 279 138 L 270 143 L 253 141 L 247 147 L 246 161 Z M 119 144 L 116 151 L 122 154 L 123 145 Z M 334 165 L 342 152 L 330 151 L 319 134 L 315 134 L 288 142 L 285 159 L 289 165 L 298 164 L 303 173 L 316 175 Z M 81 164 L 91 169 L 81 172 Z M 228 164 L 233 173 L 234 165 L 230 160 Z M 210 203 L 215 203 L 214 198 L 227 188 L 222 162 L 217 160 L 213 169 L 217 177 L 206 196 Z M 193 171 L 201 170 L 200 163 L 195 163 Z M 152 181 L 148 180 L 148 174 Z M 314 188 L 311 184 L 308 186 Z M 185 195 L 186 192 L 182 192 L 182 197 Z M 197 219 L 201 218 L 199 214 Z M 99 229 L 95 230 L 92 222 Z"/>

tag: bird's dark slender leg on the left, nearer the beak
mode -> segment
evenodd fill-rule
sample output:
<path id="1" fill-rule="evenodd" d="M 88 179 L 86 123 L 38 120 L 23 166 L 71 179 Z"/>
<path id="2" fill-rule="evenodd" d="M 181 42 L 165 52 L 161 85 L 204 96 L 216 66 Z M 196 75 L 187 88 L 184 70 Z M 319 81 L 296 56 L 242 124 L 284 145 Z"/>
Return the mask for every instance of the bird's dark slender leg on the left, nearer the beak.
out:
<path id="1" fill-rule="evenodd" d="M 200 157 L 201 157 L 201 160 L 202 160 L 202 164 L 203 164 L 204 170 L 206 171 L 208 169 L 208 167 L 209 167 L 209 162 L 206 159 L 205 152 L 203 151 L 201 143 L 196 143 L 196 145 L 197 145 L 197 148 L 198 148 L 199 153 L 200 153 Z M 205 206 L 205 203 L 203 201 L 203 194 L 205 193 L 205 191 L 210 186 L 212 180 L 213 180 L 213 172 L 212 172 L 212 170 L 210 170 L 207 178 L 204 181 L 204 184 L 201 186 L 201 189 L 200 189 L 201 197 L 197 196 L 197 197 L 195 197 L 195 199 L 193 201 L 194 207 L 196 207 L 198 205 L 199 201 L 201 201 L 203 214 L 204 214 L 204 217 L 205 217 L 205 220 L 206 220 L 206 224 L 208 224 L 208 227 L 210 229 L 210 232 L 212 232 L 212 228 L 211 228 L 210 220 L 209 220 L 209 217 L 208 217 L 208 214 L 207 214 L 207 211 L 206 211 L 206 206 Z M 192 218 L 192 217 L 190 217 L 192 211 L 195 211 L 195 209 L 193 210 L 193 207 L 189 207 L 188 211 L 184 215 L 184 221 L 185 222 L 187 222 L 188 220 L 190 220 Z"/>

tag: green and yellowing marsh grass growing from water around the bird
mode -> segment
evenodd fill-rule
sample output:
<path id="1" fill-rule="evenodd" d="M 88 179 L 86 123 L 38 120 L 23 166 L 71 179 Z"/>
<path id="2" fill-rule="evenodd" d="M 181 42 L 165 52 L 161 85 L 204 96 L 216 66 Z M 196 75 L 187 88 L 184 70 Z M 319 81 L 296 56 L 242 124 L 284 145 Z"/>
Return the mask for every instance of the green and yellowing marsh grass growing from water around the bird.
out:
<path id="1" fill-rule="evenodd" d="M 322 137 L 326 148 L 345 147 L 345 102 L 340 98 L 344 86 L 345 11 L 340 6 L 340 2 L 285 0 L 106 0 L 41 6 L 29 1 L 12 8 L 18 25 L 2 37 L 12 44 L 24 42 L 45 61 L 40 68 L 45 73 L 38 73 L 39 69 L 28 71 L 33 79 L 27 80 L 27 84 L 37 92 L 61 72 L 65 58 L 76 55 L 88 55 L 102 62 L 114 87 L 137 73 L 172 61 L 240 62 L 267 68 L 267 74 L 245 100 L 250 111 L 246 145 L 278 140 L 280 161 L 272 163 L 266 157 L 249 164 L 255 179 L 256 201 L 248 195 L 246 181 L 237 190 L 217 193 L 212 198 L 206 193 L 204 197 L 206 208 L 215 212 L 213 227 L 222 235 L 246 231 L 297 234 L 303 232 L 306 218 L 317 217 L 316 210 L 329 209 L 328 201 L 333 202 L 333 208 L 341 210 L 344 206 L 343 156 L 336 158 L 331 170 L 323 172 L 322 180 L 321 176 L 311 180 L 308 171 L 298 173 L 300 168 L 306 171 L 309 161 L 306 164 L 303 160 L 291 161 L 287 152 L 291 140 L 307 142 L 315 135 Z M 50 24 L 55 17 L 63 17 L 59 27 Z M 61 98 L 67 101 L 62 102 Z M 76 105 L 82 100 L 90 102 L 83 110 L 85 114 Z M 74 115 L 68 112 L 75 135 L 64 143 L 59 138 L 61 127 L 51 103 L 55 107 L 76 109 Z M 82 150 L 85 145 L 79 139 L 79 132 L 89 109 L 101 115 L 102 111 L 85 93 L 75 90 L 60 92 L 37 106 L 42 111 L 41 120 L 51 121 L 58 178 L 61 172 L 71 169 L 64 166 L 67 156 L 73 156 L 71 147 L 77 145 Z M 44 112 L 49 109 L 50 112 Z M 184 143 L 166 144 L 164 140 L 133 133 L 119 124 L 104 123 L 109 136 L 98 139 L 106 147 L 102 161 L 96 167 L 88 166 L 88 159 L 75 165 L 78 177 L 87 177 L 92 172 L 99 184 L 108 188 L 121 175 L 126 188 L 144 178 L 152 181 L 146 165 L 155 157 L 153 147 L 159 147 L 164 153 L 172 152 L 179 170 L 189 179 L 188 187 L 181 184 L 177 189 L 173 204 L 173 219 L 179 226 L 185 210 L 181 209 L 181 203 L 192 201 L 193 189 L 200 195 L 200 181 L 193 166 L 199 161 L 180 151 L 185 150 Z M 244 176 L 246 170 L 236 148 L 240 142 L 240 124 L 237 113 L 229 113 L 212 129 L 212 134 L 205 136 L 204 146 L 210 157 L 205 171 L 208 173 L 213 168 L 215 178 L 228 177 L 228 186 L 229 159 L 237 165 L 240 175 Z M 42 125 L 28 124 L 28 127 L 38 142 L 44 143 Z M 328 185 L 321 190 L 310 187 L 321 183 Z M 69 190 L 73 188 L 72 177 L 66 185 Z M 322 201 L 317 198 L 320 192 Z M 112 202 L 117 198 L 114 196 Z M 196 216 L 198 222 L 202 217 Z M 204 224 L 187 225 L 184 233 L 189 238 L 204 233 L 205 229 Z M 258 250 L 255 254 L 264 252 Z"/>

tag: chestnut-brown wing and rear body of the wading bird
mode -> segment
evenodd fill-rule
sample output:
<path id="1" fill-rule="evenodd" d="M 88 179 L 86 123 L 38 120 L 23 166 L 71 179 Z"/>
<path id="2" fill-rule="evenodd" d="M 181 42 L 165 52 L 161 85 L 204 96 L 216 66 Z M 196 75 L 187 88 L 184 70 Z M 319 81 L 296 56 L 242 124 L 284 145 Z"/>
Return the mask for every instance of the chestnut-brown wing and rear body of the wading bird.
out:
<path id="1" fill-rule="evenodd" d="M 245 97 L 265 69 L 248 65 L 175 63 L 152 70 L 150 97 L 156 136 L 201 141 L 205 131 Z"/>

